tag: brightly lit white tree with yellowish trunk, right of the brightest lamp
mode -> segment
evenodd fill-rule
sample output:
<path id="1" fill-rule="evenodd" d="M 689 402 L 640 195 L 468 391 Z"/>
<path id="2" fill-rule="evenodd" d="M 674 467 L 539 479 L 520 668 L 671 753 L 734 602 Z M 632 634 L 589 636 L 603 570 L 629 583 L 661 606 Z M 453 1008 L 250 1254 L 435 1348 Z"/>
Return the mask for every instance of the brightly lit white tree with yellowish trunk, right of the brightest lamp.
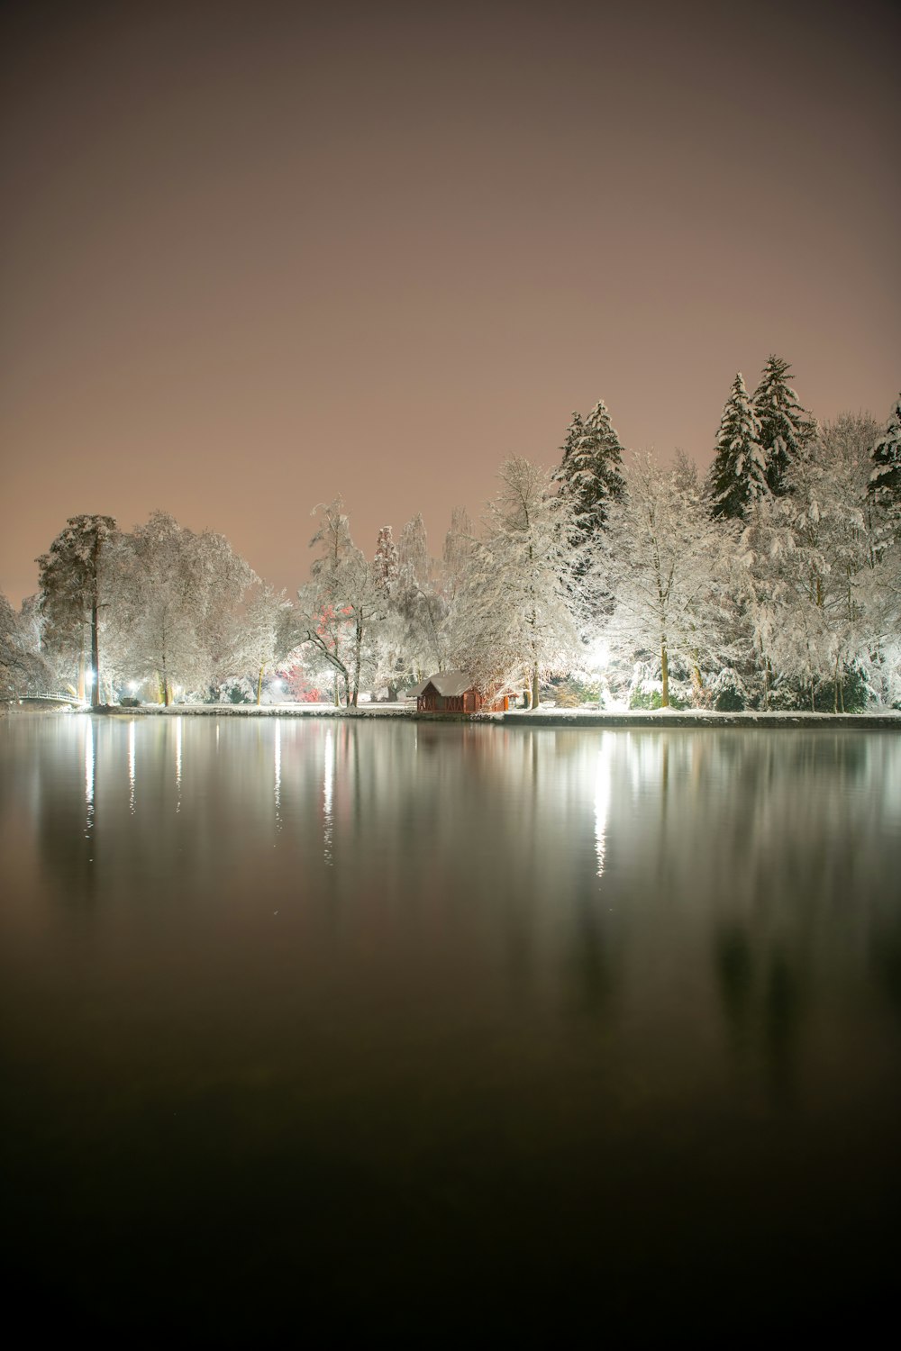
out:
<path id="1" fill-rule="evenodd" d="M 615 598 L 607 639 L 615 655 L 659 661 L 667 708 L 673 661 L 700 671 L 723 647 L 738 527 L 711 519 L 685 457 L 663 467 L 650 453 L 635 455 L 625 486 L 611 507 L 598 561 Z"/>

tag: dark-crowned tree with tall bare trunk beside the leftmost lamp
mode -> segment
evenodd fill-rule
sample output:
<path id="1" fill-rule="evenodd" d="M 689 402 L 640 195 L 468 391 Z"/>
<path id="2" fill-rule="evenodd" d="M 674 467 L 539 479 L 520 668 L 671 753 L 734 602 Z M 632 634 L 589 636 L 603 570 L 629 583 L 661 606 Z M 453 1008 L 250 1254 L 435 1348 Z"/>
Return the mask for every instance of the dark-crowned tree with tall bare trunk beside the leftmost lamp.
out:
<path id="1" fill-rule="evenodd" d="M 118 536 L 112 516 L 70 516 L 49 551 L 38 559 L 41 608 L 50 647 L 65 648 L 78 663 L 84 697 L 85 636 L 91 644 L 91 703 L 100 704 L 100 620 L 115 570 Z"/>

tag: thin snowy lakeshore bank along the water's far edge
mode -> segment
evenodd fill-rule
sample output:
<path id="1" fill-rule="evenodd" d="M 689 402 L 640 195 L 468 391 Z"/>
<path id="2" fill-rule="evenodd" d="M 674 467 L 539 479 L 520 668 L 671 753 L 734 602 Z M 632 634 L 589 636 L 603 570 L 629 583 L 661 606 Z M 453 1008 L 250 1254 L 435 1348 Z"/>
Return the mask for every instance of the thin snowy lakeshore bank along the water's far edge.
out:
<path id="1" fill-rule="evenodd" d="M 61 708 L 23 708 L 7 705 L 9 713 L 61 713 Z M 66 708 L 65 712 L 69 712 Z M 357 709 L 335 708 L 330 704 L 172 704 L 140 705 L 122 708 L 103 705 L 97 709 L 76 709 L 95 717 L 289 717 L 289 719 L 339 719 L 339 720 L 404 720 L 416 723 L 469 723 L 474 725 L 503 727 L 557 727 L 557 728 L 607 728 L 624 730 L 631 727 L 673 727 L 678 730 L 715 727 L 758 727 L 758 728 L 856 728 L 858 731 L 901 731 L 901 711 L 886 709 L 870 713 L 808 713 L 800 709 L 790 712 L 731 712 L 721 713 L 708 709 L 635 709 L 629 712 L 607 712 L 589 708 L 542 708 L 509 709 L 503 713 L 417 713 L 415 708 L 403 704 L 370 704 Z"/>

